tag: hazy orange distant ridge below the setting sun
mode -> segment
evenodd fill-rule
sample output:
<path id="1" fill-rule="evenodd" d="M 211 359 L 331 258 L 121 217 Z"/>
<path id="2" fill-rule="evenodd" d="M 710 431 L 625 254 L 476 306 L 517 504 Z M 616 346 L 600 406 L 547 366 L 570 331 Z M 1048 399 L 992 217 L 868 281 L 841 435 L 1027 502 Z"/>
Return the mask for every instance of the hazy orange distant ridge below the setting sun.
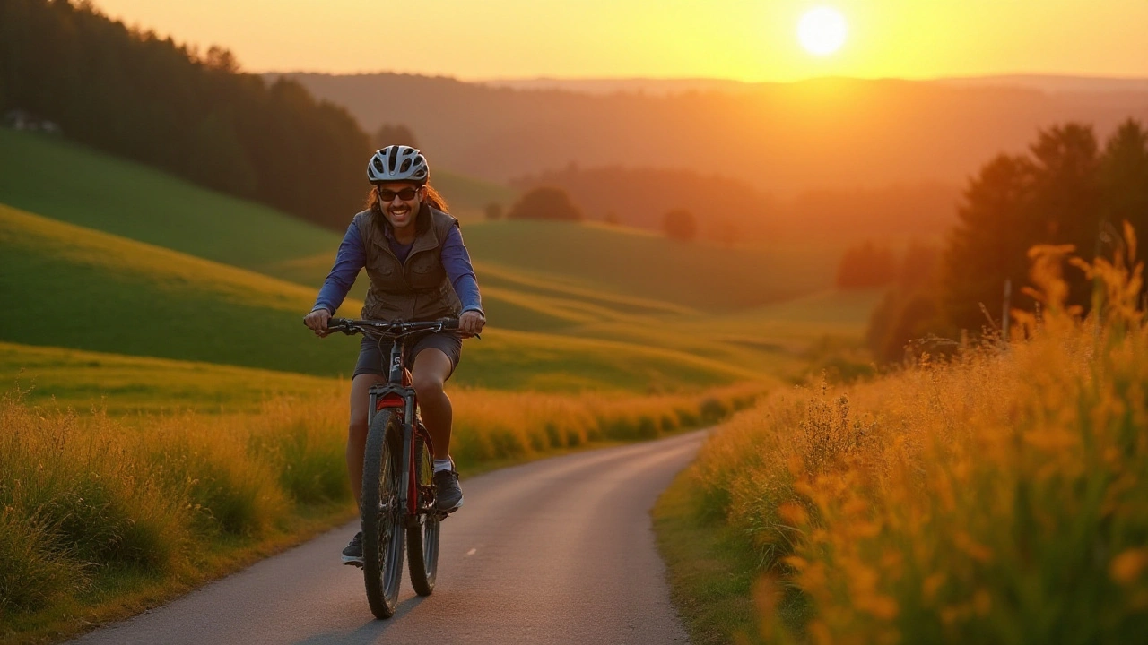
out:
<path id="1" fill-rule="evenodd" d="M 400 73 L 288 76 L 366 130 L 410 126 L 434 163 L 488 181 L 571 164 L 651 168 L 729 177 L 778 199 L 959 185 L 994 155 L 1024 150 L 1040 129 L 1079 122 L 1104 138 L 1127 118 L 1148 121 L 1148 86 L 1138 90 L 1148 81 L 1135 79 L 537 79 L 514 88 Z M 530 83 L 540 90 L 521 88 Z M 626 87 L 644 90 L 602 93 Z M 690 91 L 704 87 L 713 90 Z"/>

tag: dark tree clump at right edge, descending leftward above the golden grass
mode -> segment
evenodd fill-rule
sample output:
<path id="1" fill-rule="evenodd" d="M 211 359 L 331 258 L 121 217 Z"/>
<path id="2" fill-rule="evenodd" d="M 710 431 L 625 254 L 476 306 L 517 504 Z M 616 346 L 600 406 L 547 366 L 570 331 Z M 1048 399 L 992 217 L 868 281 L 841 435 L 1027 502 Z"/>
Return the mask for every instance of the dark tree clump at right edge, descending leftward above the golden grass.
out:
<path id="1" fill-rule="evenodd" d="M 1041 130 L 1027 154 L 998 155 L 969 179 L 944 249 L 874 312 L 870 347 L 881 360 L 900 360 L 909 341 L 929 334 L 995 333 L 1006 285 L 1010 308 L 1034 305 L 1022 293 L 1030 248 L 1072 244 L 1085 259 L 1111 256 L 1122 250 L 1124 222 L 1148 236 L 1148 130 L 1127 119 L 1103 148 L 1089 125 Z M 1087 311 L 1092 282 L 1078 270 L 1065 279 L 1069 304 Z"/>

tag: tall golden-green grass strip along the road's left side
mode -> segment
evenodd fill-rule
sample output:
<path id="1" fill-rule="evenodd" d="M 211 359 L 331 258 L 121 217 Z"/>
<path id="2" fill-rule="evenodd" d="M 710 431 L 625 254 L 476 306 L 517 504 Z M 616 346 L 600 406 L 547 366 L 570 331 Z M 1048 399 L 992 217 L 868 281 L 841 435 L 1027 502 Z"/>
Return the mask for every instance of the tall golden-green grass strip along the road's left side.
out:
<path id="1" fill-rule="evenodd" d="M 451 393 L 465 474 L 599 440 L 718 421 L 758 386 L 696 396 Z M 0 397 L 0 616 L 99 584 L 104 569 L 177 575 L 219 544 L 281 531 L 309 505 L 350 506 L 342 388 L 258 413 L 79 415 Z"/>

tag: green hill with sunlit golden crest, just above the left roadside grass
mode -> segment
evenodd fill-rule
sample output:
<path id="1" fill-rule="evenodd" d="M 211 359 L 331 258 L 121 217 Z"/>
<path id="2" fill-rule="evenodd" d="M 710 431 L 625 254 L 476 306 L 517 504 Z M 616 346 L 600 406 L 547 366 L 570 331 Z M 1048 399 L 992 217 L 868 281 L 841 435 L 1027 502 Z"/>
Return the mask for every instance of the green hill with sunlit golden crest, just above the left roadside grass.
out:
<path id="1" fill-rule="evenodd" d="M 0 293 L 21 311 L 0 341 L 316 375 L 354 366 L 356 340 L 302 327 L 307 287 L 7 207 L 0 249 Z M 747 375 L 682 352 L 496 328 L 464 352 L 461 384 L 646 391 Z"/>

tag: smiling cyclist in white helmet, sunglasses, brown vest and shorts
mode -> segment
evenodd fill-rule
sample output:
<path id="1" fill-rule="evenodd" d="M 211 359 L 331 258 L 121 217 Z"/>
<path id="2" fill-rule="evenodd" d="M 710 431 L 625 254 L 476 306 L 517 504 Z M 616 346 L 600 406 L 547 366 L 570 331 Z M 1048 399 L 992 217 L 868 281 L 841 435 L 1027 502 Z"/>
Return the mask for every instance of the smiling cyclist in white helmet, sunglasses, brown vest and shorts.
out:
<path id="1" fill-rule="evenodd" d="M 457 317 L 458 332 L 424 335 L 408 350 L 411 379 L 422 422 L 434 442 L 434 482 L 440 511 L 463 505 L 458 472 L 450 459 L 451 405 L 443 393 L 461 353 L 463 337 L 486 325 L 479 283 L 471 256 L 463 244 L 458 220 L 447 213 L 442 196 L 429 185 L 426 157 L 410 146 L 387 146 L 367 162 L 373 185 L 366 210 L 355 216 L 339 244 L 335 265 L 319 289 L 304 322 L 316 335 L 329 334 L 334 316 L 360 269 L 371 286 L 363 318 L 373 320 L 435 320 Z M 351 378 L 351 418 L 347 440 L 347 469 L 359 503 L 363 453 L 367 434 L 370 389 L 387 380 L 390 348 L 364 336 Z M 343 564 L 362 565 L 363 534 L 343 549 Z"/>

